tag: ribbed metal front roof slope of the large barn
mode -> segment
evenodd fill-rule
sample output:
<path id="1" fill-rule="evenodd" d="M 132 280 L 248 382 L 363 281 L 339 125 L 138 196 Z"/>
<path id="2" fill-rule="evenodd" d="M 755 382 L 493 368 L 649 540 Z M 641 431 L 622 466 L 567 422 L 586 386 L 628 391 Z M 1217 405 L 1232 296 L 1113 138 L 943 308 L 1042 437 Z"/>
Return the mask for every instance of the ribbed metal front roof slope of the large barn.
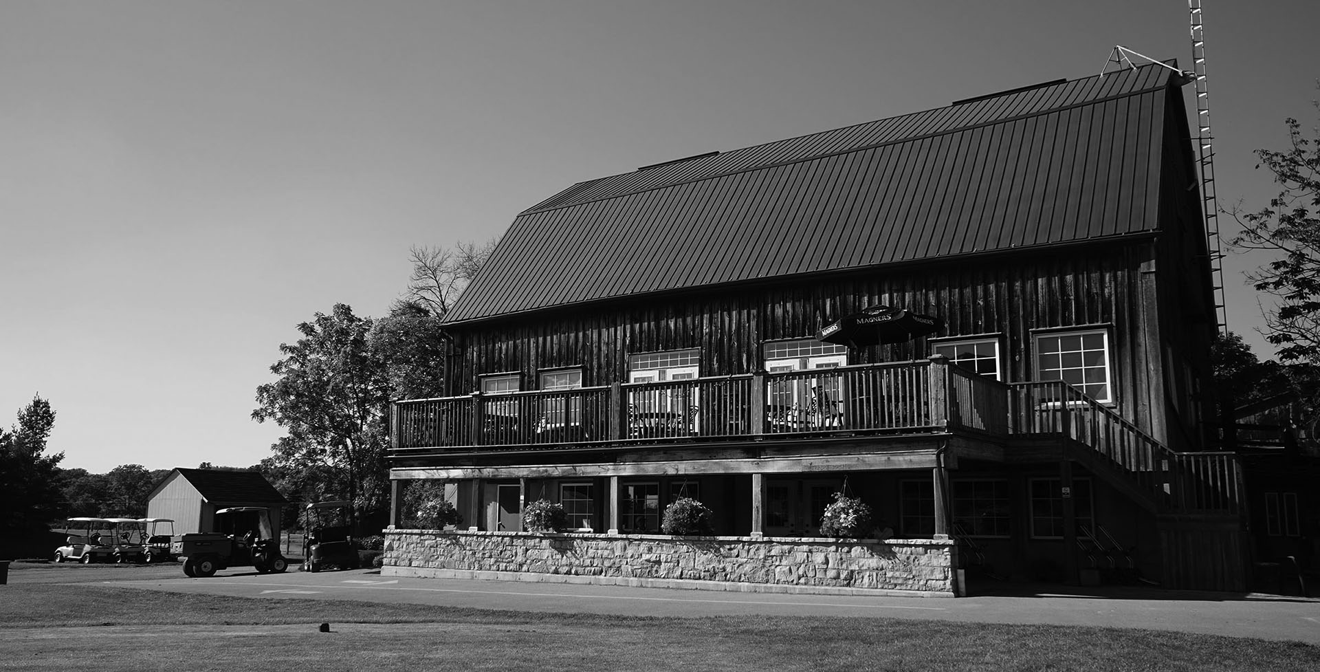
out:
<path id="1" fill-rule="evenodd" d="M 449 323 L 1156 226 L 1148 65 L 570 186 L 521 213 Z"/>

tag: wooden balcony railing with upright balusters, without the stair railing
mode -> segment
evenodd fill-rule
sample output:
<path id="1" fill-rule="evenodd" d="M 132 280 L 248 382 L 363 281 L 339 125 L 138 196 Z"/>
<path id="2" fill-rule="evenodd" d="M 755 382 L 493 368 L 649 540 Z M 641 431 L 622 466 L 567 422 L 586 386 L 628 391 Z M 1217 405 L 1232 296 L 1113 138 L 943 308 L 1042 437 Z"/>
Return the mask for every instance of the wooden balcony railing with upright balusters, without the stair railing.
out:
<path id="1" fill-rule="evenodd" d="M 933 362 L 399 401 L 393 448 L 550 446 L 820 433 L 1005 434 L 1007 387 Z"/>

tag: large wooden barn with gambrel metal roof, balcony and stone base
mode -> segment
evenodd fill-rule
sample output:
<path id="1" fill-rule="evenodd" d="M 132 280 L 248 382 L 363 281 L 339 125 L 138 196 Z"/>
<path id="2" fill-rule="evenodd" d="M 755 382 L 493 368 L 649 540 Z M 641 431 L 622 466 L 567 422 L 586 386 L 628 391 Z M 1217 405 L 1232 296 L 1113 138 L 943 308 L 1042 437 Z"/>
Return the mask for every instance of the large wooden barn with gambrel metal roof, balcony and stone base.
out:
<path id="1" fill-rule="evenodd" d="M 1049 82 L 523 211 L 447 317 L 449 396 L 392 409 L 385 573 L 1243 588 L 1241 466 L 1203 422 L 1216 310 L 1184 82 Z M 821 339 L 880 305 L 940 327 Z M 418 479 L 450 486 L 459 529 L 399 524 Z M 876 539 L 820 536 L 837 492 Z M 657 533 L 681 495 L 714 536 Z M 539 499 L 573 531 L 523 532 Z"/>

